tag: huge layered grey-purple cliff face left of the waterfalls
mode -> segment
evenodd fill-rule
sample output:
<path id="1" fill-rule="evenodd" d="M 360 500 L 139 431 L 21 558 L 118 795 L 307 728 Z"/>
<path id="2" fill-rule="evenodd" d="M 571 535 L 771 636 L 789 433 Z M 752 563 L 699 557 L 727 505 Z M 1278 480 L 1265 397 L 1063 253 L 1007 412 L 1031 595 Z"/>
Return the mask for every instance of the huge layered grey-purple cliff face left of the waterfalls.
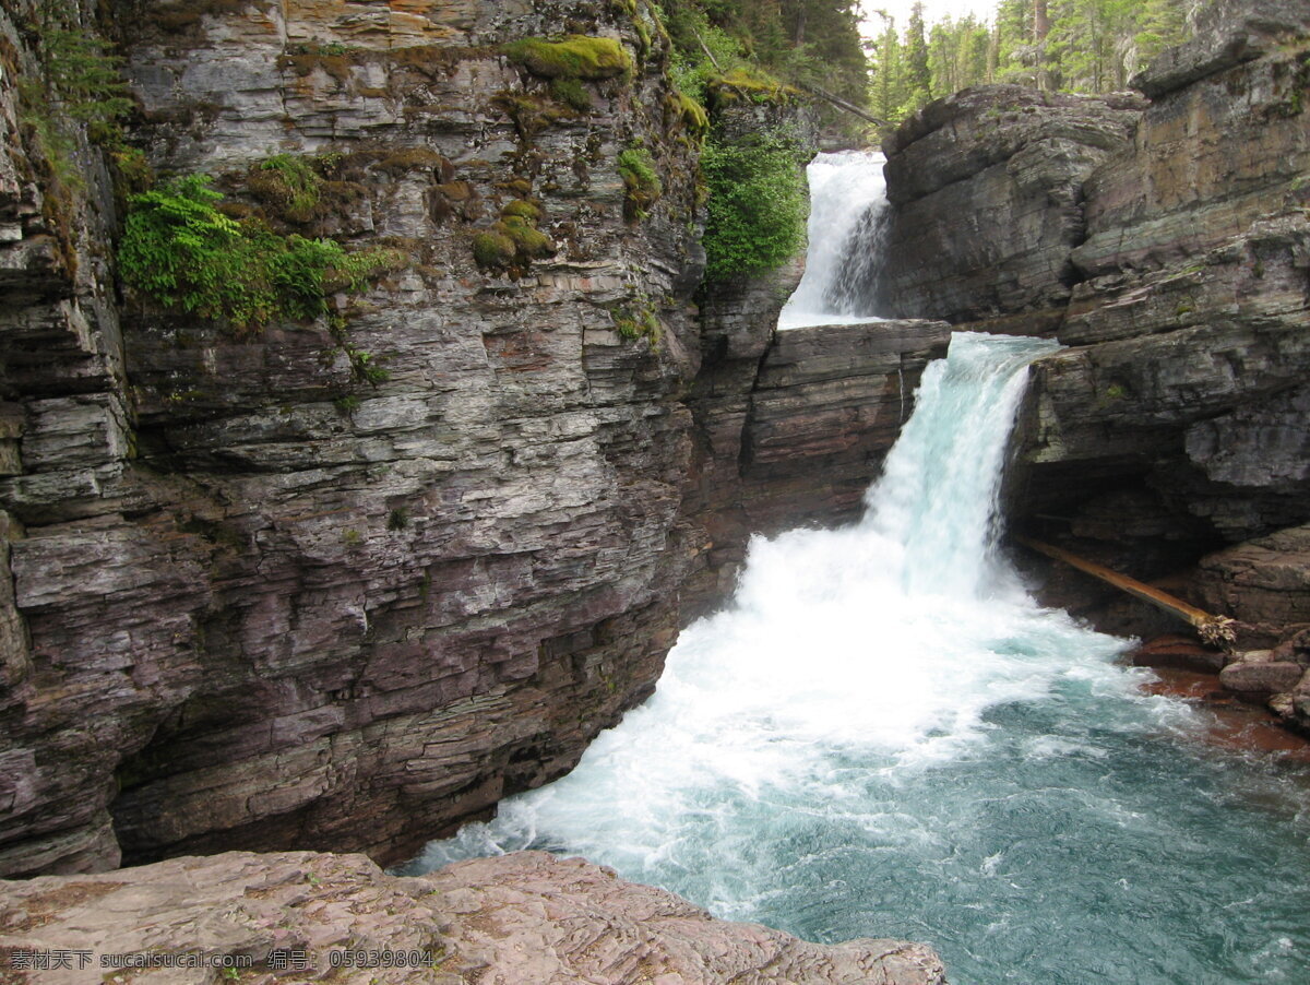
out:
<path id="1" fill-rule="evenodd" d="M 7 68 L 0 871 L 396 859 L 650 693 L 686 563 L 694 162 L 667 52 L 620 8 L 122 4 L 156 169 L 403 257 L 334 324 L 244 337 L 119 321 L 113 198 L 90 169 L 56 227 Z M 590 110 L 498 47 L 566 31 L 631 64 L 579 83 Z M 639 220 L 638 144 L 664 177 Z M 257 194 L 279 153 L 335 169 L 312 215 Z M 512 202 L 553 249 L 481 269 Z"/>

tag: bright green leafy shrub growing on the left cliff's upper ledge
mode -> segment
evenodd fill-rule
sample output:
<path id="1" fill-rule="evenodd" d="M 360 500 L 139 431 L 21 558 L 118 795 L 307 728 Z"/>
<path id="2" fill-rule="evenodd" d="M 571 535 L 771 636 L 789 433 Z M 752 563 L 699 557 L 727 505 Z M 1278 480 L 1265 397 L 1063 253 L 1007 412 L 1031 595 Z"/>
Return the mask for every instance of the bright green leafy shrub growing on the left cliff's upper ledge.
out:
<path id="1" fill-rule="evenodd" d="M 333 240 L 279 236 L 217 210 L 207 174 L 177 178 L 128 198 L 118 263 L 123 280 L 166 308 L 224 318 L 237 329 L 279 318 L 317 318 L 333 291 L 360 289 L 394 250 L 347 254 Z"/>

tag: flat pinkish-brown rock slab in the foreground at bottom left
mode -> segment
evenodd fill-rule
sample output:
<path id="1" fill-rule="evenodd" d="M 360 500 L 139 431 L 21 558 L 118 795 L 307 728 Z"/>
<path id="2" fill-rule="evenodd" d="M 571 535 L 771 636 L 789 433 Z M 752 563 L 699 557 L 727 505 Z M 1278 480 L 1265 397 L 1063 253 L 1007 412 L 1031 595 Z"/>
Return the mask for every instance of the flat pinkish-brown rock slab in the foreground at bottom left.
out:
<path id="1" fill-rule="evenodd" d="M 360 955 L 383 950 L 393 956 Z M 13 968 L 29 954 L 56 951 L 71 956 L 71 968 Z M 122 981 L 946 982 L 937 955 L 922 944 L 811 944 L 715 920 L 584 859 L 538 851 L 461 862 L 418 878 L 385 875 L 363 855 L 229 851 L 102 875 L 0 883 L 3 981 L 117 981 L 102 956 L 143 951 L 220 963 L 249 956 L 253 964 L 236 978 L 217 968 L 160 968 L 124 971 Z M 346 967 L 347 951 L 373 967 Z M 76 952 L 90 954 L 86 968 L 77 968 Z M 270 952 L 272 964 L 278 952 L 304 952 L 313 968 L 274 971 Z"/>

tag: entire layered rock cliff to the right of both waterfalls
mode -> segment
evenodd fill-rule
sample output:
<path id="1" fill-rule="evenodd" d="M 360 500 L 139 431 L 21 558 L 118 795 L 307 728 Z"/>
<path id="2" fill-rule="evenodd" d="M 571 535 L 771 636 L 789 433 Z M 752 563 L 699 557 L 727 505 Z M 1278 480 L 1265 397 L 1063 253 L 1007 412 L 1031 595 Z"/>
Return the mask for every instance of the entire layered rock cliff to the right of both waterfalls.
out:
<path id="1" fill-rule="evenodd" d="M 1034 368 L 1017 520 L 1178 575 L 1174 591 L 1246 623 L 1243 647 L 1310 620 L 1307 30 L 1296 5 L 1213 4 L 1134 80 L 1149 103 L 971 90 L 901 127 L 887 165 L 882 303 L 1068 346 Z M 1098 589 L 1052 597 L 1079 595 Z M 1310 681 L 1277 690 L 1310 724 Z"/>

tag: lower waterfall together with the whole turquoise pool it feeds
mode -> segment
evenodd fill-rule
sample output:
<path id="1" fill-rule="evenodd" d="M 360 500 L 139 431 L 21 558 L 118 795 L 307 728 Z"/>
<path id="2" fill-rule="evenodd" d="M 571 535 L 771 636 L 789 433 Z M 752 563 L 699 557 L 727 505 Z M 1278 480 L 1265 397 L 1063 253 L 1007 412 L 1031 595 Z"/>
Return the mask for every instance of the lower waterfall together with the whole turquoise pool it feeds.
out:
<path id="1" fill-rule="evenodd" d="M 956 334 L 859 524 L 753 541 L 646 705 L 409 871 L 580 854 L 720 917 L 930 943 L 954 985 L 1310 980 L 1303 769 L 1207 747 L 998 550 L 1052 348 Z"/>

